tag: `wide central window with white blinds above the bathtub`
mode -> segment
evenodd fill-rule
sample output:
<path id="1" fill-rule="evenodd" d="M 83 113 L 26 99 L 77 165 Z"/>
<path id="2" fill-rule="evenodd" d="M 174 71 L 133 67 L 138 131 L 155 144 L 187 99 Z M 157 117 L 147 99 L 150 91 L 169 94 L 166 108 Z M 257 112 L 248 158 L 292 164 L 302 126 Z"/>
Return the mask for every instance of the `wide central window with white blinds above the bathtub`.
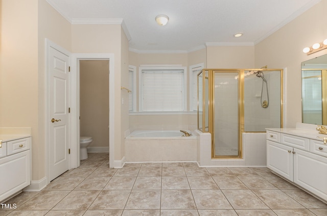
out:
<path id="1" fill-rule="evenodd" d="M 185 67 L 140 67 L 139 111 L 186 111 Z"/>

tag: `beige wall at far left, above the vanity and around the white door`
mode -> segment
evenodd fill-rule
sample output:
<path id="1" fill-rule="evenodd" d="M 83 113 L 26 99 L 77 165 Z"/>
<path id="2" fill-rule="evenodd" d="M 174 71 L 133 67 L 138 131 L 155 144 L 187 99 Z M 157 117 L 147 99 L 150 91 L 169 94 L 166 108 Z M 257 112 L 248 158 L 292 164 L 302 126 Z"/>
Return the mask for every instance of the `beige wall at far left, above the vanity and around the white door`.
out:
<path id="1" fill-rule="evenodd" d="M 0 127 L 32 127 L 32 180 L 39 180 L 45 176 L 45 38 L 69 49 L 70 24 L 45 0 L 0 5 Z"/>

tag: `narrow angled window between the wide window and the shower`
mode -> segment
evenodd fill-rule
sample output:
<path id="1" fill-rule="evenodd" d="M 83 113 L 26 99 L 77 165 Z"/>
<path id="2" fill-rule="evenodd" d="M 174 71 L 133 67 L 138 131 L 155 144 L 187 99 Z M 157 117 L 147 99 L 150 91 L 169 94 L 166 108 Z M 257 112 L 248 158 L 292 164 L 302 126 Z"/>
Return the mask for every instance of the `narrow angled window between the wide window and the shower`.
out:
<path id="1" fill-rule="evenodd" d="M 203 69 L 203 63 L 190 66 L 190 111 L 198 110 L 198 73 Z"/>

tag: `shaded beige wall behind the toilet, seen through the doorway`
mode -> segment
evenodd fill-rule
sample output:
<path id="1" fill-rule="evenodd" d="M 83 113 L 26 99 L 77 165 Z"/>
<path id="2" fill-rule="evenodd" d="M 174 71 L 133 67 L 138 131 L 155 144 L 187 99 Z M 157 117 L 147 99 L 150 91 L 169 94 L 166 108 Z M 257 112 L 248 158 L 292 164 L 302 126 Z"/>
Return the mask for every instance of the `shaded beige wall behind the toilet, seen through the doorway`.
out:
<path id="1" fill-rule="evenodd" d="M 109 61 L 80 61 L 80 132 L 89 147 L 109 146 Z"/>

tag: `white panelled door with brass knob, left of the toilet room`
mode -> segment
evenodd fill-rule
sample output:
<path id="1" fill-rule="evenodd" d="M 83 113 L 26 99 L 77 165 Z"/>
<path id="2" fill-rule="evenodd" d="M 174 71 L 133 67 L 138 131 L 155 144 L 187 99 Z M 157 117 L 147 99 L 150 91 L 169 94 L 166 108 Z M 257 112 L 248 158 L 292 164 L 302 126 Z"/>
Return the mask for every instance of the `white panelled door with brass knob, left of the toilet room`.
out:
<path id="1" fill-rule="evenodd" d="M 68 170 L 69 56 L 48 48 L 49 181 Z"/>

